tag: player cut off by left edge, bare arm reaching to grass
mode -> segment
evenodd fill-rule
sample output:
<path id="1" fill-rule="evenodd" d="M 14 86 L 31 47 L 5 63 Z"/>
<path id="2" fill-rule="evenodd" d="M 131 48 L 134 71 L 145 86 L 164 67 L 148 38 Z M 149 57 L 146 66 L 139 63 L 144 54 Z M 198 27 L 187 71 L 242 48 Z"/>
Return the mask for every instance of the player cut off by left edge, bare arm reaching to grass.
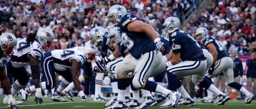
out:
<path id="1" fill-rule="evenodd" d="M 5 66 L 10 61 L 10 57 L 14 54 L 14 49 L 17 45 L 16 37 L 11 33 L 3 33 L 0 36 L 0 80 L 3 90 L 6 93 L 6 99 L 8 107 L 14 107 L 18 109 L 15 105 L 15 100 L 11 93 L 11 85 L 8 77 L 6 76 Z"/>

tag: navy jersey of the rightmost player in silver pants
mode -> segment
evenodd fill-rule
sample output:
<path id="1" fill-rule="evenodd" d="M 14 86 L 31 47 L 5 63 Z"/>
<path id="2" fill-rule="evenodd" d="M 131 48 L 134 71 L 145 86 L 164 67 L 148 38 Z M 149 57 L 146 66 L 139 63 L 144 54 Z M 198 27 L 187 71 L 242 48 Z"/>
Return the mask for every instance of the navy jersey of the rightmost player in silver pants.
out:
<path id="1" fill-rule="evenodd" d="M 216 51 L 218 52 L 218 59 L 221 59 L 224 57 L 229 57 L 229 55 L 227 55 L 227 52 L 225 50 L 223 50 L 223 48 L 221 47 L 221 44 L 219 44 L 219 41 L 217 39 L 215 39 L 213 36 L 204 38 L 203 42 L 204 42 L 204 46 L 206 47 L 207 50 L 209 50 L 207 48 L 207 45 L 210 43 L 213 43 L 213 45 L 216 48 Z"/>

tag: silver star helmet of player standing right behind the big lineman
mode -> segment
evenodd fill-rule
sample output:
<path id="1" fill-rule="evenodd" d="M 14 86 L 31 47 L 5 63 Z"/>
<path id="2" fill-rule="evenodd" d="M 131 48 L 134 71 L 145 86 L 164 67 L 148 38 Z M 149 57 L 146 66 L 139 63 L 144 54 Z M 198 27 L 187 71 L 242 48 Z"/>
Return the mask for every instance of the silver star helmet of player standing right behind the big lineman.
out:
<path id="1" fill-rule="evenodd" d="M 169 39 L 169 33 L 174 32 L 175 30 L 180 29 L 180 20 L 176 17 L 168 17 L 166 18 L 165 22 L 163 23 L 163 26 L 165 28 L 162 30 L 163 37 L 168 37 Z"/>

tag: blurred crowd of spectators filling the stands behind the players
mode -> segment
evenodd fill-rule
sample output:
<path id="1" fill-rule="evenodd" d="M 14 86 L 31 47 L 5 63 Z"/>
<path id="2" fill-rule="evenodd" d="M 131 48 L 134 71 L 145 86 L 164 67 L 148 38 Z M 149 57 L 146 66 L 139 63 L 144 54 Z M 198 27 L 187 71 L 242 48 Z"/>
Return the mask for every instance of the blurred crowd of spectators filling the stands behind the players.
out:
<path id="1" fill-rule="evenodd" d="M 161 35 L 166 18 L 174 16 L 181 20 L 201 1 L 0 0 L 0 34 L 10 32 L 24 38 L 32 30 L 49 28 L 55 34 L 55 49 L 83 46 L 93 27 L 107 28 L 108 9 L 122 5 Z M 196 29 L 206 27 L 209 36 L 219 39 L 230 55 L 236 51 L 238 56 L 250 56 L 256 50 L 256 0 L 206 1 L 206 9 L 197 10 L 199 15 L 191 15 L 186 23 L 181 20 L 181 30 L 195 38 Z"/>

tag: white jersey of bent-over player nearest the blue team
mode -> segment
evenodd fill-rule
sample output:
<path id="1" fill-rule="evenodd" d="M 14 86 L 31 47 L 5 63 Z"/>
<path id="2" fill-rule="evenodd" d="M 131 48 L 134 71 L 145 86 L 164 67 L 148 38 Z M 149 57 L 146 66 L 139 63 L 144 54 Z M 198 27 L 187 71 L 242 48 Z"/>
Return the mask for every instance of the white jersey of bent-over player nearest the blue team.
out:
<path id="1" fill-rule="evenodd" d="M 76 59 L 76 61 L 81 66 L 86 61 L 83 47 L 73 47 L 65 50 L 53 50 L 51 53 L 53 57 L 54 68 L 58 71 L 65 71 L 70 69 L 72 66 L 70 59 Z"/>

